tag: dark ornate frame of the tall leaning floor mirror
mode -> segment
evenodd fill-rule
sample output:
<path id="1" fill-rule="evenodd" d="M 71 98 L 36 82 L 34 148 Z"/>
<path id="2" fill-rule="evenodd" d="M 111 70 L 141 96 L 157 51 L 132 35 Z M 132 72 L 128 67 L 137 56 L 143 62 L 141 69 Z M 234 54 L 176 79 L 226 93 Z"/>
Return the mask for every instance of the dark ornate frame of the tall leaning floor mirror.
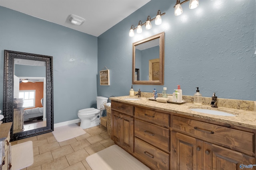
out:
<path id="1" fill-rule="evenodd" d="M 10 130 L 10 141 L 40 135 L 53 131 L 53 67 L 52 57 L 17 51 L 4 50 L 4 123 L 13 122 L 14 112 L 14 59 L 26 59 L 46 62 L 46 127 L 13 133 Z"/>

